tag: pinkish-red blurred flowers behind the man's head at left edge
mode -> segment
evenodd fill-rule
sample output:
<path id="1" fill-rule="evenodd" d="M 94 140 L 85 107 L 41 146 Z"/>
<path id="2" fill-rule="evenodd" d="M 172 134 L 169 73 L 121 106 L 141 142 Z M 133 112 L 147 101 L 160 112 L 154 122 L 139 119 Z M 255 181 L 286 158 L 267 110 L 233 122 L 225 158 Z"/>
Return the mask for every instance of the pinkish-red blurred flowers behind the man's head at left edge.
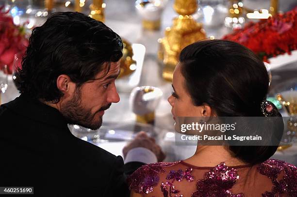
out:
<path id="1" fill-rule="evenodd" d="M 2 12 L 3 8 L 4 6 L 0 7 L 0 70 L 12 74 L 15 55 L 19 54 L 22 57 L 29 41 L 25 32 L 26 24 L 15 25 L 8 11 Z M 5 65 L 7 70 L 4 70 Z"/>

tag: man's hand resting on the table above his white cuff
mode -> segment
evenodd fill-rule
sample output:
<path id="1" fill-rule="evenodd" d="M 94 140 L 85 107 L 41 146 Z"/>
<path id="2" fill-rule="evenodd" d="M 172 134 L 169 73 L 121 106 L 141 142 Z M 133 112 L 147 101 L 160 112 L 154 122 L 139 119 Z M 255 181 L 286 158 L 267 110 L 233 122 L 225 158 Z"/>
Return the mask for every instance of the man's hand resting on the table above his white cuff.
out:
<path id="1" fill-rule="evenodd" d="M 162 162 L 165 159 L 165 154 L 162 152 L 162 149 L 159 145 L 156 144 L 154 138 L 149 137 L 146 132 L 139 132 L 135 139 L 133 139 L 129 144 L 127 144 L 123 149 L 124 157 L 126 157 L 127 153 L 137 147 L 143 147 L 151 152 L 155 153 L 158 162 Z"/>

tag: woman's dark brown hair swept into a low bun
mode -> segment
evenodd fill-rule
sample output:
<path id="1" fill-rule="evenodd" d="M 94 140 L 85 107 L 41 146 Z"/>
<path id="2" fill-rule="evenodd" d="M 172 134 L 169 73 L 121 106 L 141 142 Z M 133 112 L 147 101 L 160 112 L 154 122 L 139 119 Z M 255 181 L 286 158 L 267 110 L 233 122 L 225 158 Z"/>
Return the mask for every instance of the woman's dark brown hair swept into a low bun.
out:
<path id="1" fill-rule="evenodd" d="M 208 105 L 219 117 L 264 116 L 261 103 L 268 93 L 269 76 L 263 61 L 247 47 L 227 40 L 204 40 L 186 46 L 180 62 L 185 89 L 195 106 Z M 273 106 L 270 116 L 281 114 Z M 281 138 L 282 133 L 277 135 Z M 277 148 L 229 146 L 235 157 L 250 164 L 264 162 Z"/>

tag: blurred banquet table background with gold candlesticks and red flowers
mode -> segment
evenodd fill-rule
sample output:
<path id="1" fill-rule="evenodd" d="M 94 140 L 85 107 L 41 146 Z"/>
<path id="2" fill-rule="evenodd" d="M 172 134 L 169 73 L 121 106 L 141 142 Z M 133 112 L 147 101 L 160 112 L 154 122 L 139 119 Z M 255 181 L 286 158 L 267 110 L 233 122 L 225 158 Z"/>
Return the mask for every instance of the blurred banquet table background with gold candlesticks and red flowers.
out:
<path id="1" fill-rule="evenodd" d="M 297 0 L 0 0 L 0 6 L 0 103 L 19 95 L 14 72 L 31 30 L 54 12 L 78 11 L 103 21 L 125 48 L 116 80 L 121 101 L 106 111 L 99 130 L 69 125 L 70 131 L 115 155 L 122 155 L 137 132 L 146 131 L 165 150 L 165 161 L 185 159 L 196 147 L 175 145 L 167 103 L 178 55 L 198 40 L 229 39 L 269 63 L 268 100 L 290 117 L 273 158 L 297 165 Z M 267 28 L 256 28 L 260 23 Z M 281 38 L 289 39 L 282 43 Z"/>

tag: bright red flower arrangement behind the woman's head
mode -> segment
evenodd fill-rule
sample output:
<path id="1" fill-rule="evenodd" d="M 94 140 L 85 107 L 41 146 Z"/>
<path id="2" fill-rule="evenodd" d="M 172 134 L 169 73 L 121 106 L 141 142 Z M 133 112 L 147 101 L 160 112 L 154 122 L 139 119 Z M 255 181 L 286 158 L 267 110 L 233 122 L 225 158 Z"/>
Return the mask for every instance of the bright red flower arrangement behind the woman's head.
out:
<path id="1" fill-rule="evenodd" d="M 297 49 L 297 7 L 257 23 L 250 22 L 243 29 L 225 35 L 223 39 L 247 46 L 263 61 Z"/>

